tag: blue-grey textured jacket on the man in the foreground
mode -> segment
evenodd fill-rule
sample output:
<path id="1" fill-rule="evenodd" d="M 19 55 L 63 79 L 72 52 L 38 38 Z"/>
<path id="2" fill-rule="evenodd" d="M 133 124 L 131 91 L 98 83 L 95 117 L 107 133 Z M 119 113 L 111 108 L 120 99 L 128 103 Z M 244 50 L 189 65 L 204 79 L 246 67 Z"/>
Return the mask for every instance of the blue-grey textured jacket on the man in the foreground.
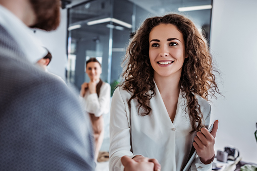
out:
<path id="1" fill-rule="evenodd" d="M 94 170 L 89 119 L 0 25 L 0 170 Z"/>

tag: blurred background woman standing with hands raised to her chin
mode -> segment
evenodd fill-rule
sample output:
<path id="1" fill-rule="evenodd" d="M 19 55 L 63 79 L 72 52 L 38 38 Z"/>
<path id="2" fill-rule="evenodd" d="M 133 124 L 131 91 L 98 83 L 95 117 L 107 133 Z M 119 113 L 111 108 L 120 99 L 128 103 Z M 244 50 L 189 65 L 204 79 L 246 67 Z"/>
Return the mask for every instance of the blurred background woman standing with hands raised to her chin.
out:
<path id="1" fill-rule="evenodd" d="M 111 86 L 100 79 L 101 64 L 96 58 L 90 58 L 86 62 L 86 73 L 90 82 L 84 82 L 81 85 L 80 96 L 84 99 L 85 111 L 91 119 L 96 160 L 104 140 L 104 118 L 102 118 L 102 114 L 109 112 Z"/>

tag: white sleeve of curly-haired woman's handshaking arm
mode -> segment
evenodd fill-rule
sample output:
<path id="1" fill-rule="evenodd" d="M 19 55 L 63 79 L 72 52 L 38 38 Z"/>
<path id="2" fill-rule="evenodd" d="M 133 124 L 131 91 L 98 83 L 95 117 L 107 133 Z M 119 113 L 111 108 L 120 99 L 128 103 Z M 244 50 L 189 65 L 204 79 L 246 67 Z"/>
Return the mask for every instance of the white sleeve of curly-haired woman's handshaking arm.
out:
<path id="1" fill-rule="evenodd" d="M 130 151 L 130 125 L 119 88 L 113 94 L 110 113 L 110 161 L 109 169 L 123 171 L 121 157 L 127 155 L 133 158 L 136 154 Z"/>

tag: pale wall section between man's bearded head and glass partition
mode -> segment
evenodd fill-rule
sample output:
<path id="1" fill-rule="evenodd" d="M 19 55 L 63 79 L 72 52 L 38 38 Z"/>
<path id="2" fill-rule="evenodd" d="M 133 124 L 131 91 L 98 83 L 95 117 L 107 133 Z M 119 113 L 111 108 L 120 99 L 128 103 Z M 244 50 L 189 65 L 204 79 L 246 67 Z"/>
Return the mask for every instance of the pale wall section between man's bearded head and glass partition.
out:
<path id="1" fill-rule="evenodd" d="M 61 76 L 65 80 L 65 67 L 67 63 L 66 37 L 67 37 L 67 10 L 61 10 L 61 23 L 57 30 L 45 32 L 37 30 L 35 35 L 43 45 L 52 53 L 53 58 L 47 70 Z"/>

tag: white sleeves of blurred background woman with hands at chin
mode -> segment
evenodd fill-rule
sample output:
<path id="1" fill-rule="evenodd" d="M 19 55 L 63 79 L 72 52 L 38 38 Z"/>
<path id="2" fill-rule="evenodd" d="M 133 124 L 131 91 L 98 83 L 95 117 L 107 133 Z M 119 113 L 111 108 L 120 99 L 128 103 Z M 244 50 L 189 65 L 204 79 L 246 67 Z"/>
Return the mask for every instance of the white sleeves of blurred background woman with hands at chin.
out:
<path id="1" fill-rule="evenodd" d="M 101 116 L 110 106 L 111 86 L 109 83 L 102 85 L 99 98 L 96 93 L 88 95 L 85 104 L 85 110 L 94 114 L 96 117 Z"/>

